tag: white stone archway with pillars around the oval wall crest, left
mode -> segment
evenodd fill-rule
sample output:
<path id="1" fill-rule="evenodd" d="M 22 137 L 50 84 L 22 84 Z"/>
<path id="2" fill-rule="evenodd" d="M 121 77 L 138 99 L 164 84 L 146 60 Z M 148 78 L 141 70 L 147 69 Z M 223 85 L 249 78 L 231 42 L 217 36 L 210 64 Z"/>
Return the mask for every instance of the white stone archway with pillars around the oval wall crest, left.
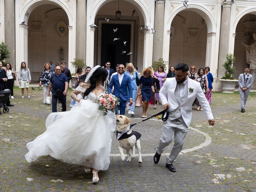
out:
<path id="1" fill-rule="evenodd" d="M 66 48 L 66 53 L 67 53 L 67 63 L 68 67 L 73 71 L 74 69 L 71 67 L 70 62 L 75 58 L 75 50 L 76 50 L 76 42 L 73 41 L 73 39 L 76 38 L 76 18 L 73 17 L 76 13 L 76 4 L 72 4 L 70 2 L 64 2 L 62 0 L 31 0 L 31 1 L 26 1 L 23 4 L 20 2 L 16 2 L 16 8 L 18 9 L 18 14 L 16 14 L 16 70 L 19 70 L 19 63 L 21 61 L 28 62 L 28 34 L 32 31 L 30 30 L 34 28 L 35 30 L 38 30 L 40 28 L 40 21 L 38 22 L 37 20 L 42 18 L 38 16 L 36 20 L 30 21 L 29 18 L 32 15 L 32 12 L 36 8 L 40 8 L 40 6 L 45 6 L 45 5 L 51 5 L 54 7 L 53 10 L 49 11 L 54 11 L 54 10 L 62 10 L 63 13 L 65 14 L 66 17 L 66 25 L 67 25 L 67 30 L 68 30 L 68 46 Z M 43 14 L 45 17 L 45 15 Z M 47 18 L 46 18 L 47 19 Z M 24 24 L 22 22 L 24 21 Z M 29 22 L 29 23 L 28 23 Z M 41 27 L 45 27 L 44 24 L 42 24 Z M 73 28 L 74 27 L 74 28 Z M 43 29 L 43 28 L 42 28 Z M 46 47 L 45 47 L 46 48 Z M 46 48 L 47 52 L 47 48 Z M 41 58 L 40 52 L 37 53 Z M 37 56 L 38 56 L 37 55 Z M 31 56 L 30 56 L 31 58 Z M 43 58 L 44 60 L 48 61 L 48 58 Z M 41 64 L 44 64 L 41 63 Z M 31 64 L 28 63 L 28 67 L 30 68 Z M 36 69 L 39 70 L 39 69 Z M 38 79 L 38 78 L 37 78 Z"/>

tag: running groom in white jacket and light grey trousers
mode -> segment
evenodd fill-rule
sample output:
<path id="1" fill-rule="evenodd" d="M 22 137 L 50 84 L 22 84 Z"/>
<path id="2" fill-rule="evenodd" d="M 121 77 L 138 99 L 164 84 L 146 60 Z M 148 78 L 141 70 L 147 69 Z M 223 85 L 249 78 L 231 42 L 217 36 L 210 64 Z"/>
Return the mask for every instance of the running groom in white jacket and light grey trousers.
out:
<path id="1" fill-rule="evenodd" d="M 166 146 L 172 142 L 174 133 L 174 146 L 166 159 L 166 168 L 172 172 L 176 172 L 172 163 L 182 150 L 188 126 L 191 123 L 192 104 L 195 98 L 200 102 L 209 124 L 211 126 L 215 124 L 212 110 L 200 83 L 188 78 L 188 65 L 185 63 L 177 64 L 174 74 L 175 78 L 167 78 L 159 92 L 164 109 L 169 109 L 169 118 L 163 122 L 162 137 L 154 155 L 154 163 L 157 164 Z M 168 94 L 168 98 L 166 98 L 166 94 Z"/>

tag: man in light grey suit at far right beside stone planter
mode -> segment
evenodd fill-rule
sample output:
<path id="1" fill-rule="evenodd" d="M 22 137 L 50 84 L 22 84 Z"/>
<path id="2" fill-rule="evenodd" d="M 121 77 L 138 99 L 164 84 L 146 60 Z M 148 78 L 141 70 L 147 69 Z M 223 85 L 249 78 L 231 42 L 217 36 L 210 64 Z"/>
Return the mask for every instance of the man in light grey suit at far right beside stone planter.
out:
<path id="1" fill-rule="evenodd" d="M 250 69 L 248 67 L 244 68 L 244 73 L 240 74 L 238 77 L 238 85 L 239 85 L 239 94 L 241 101 L 241 112 L 244 113 L 246 100 L 248 98 L 249 92 L 252 86 L 252 75 L 249 74 Z"/>

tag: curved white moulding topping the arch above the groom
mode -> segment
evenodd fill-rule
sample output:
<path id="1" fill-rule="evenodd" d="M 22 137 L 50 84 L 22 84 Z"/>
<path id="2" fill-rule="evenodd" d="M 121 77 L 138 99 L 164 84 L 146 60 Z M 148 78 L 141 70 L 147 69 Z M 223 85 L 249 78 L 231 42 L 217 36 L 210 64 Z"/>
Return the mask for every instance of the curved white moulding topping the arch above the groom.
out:
<path id="1" fill-rule="evenodd" d="M 173 8 L 172 11 L 170 11 L 169 13 L 169 18 L 168 18 L 168 22 L 167 22 L 167 27 L 170 28 L 172 21 L 174 19 L 174 17 L 180 12 L 185 10 L 185 7 L 183 6 L 183 4 L 179 4 L 178 6 L 176 6 L 175 8 Z M 198 13 L 200 16 L 202 16 L 202 18 L 205 20 L 206 25 L 207 25 L 207 32 L 216 32 L 216 19 L 215 19 L 215 15 L 212 12 L 212 10 L 210 10 L 208 7 L 202 5 L 202 4 L 189 4 L 188 8 L 186 10 L 191 10 L 194 11 L 196 13 Z"/>

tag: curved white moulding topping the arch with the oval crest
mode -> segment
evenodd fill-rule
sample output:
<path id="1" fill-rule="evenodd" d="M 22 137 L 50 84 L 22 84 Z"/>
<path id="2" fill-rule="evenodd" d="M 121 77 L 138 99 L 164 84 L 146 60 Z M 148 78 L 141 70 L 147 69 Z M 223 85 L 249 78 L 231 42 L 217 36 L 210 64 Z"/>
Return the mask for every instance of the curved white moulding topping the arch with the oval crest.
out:
<path id="1" fill-rule="evenodd" d="M 26 23 L 28 23 L 28 16 L 26 16 L 26 12 L 31 13 L 35 8 L 37 8 L 38 6 L 44 5 L 44 4 L 54 4 L 56 6 L 61 7 L 66 14 L 68 15 L 68 20 L 69 20 L 69 25 L 73 26 L 73 17 L 72 17 L 72 13 L 71 13 L 71 9 L 70 6 L 67 4 L 67 2 L 63 1 L 63 0 L 29 0 L 26 1 L 23 5 L 22 5 L 22 10 L 20 12 L 20 22 L 22 21 L 26 21 Z"/>

